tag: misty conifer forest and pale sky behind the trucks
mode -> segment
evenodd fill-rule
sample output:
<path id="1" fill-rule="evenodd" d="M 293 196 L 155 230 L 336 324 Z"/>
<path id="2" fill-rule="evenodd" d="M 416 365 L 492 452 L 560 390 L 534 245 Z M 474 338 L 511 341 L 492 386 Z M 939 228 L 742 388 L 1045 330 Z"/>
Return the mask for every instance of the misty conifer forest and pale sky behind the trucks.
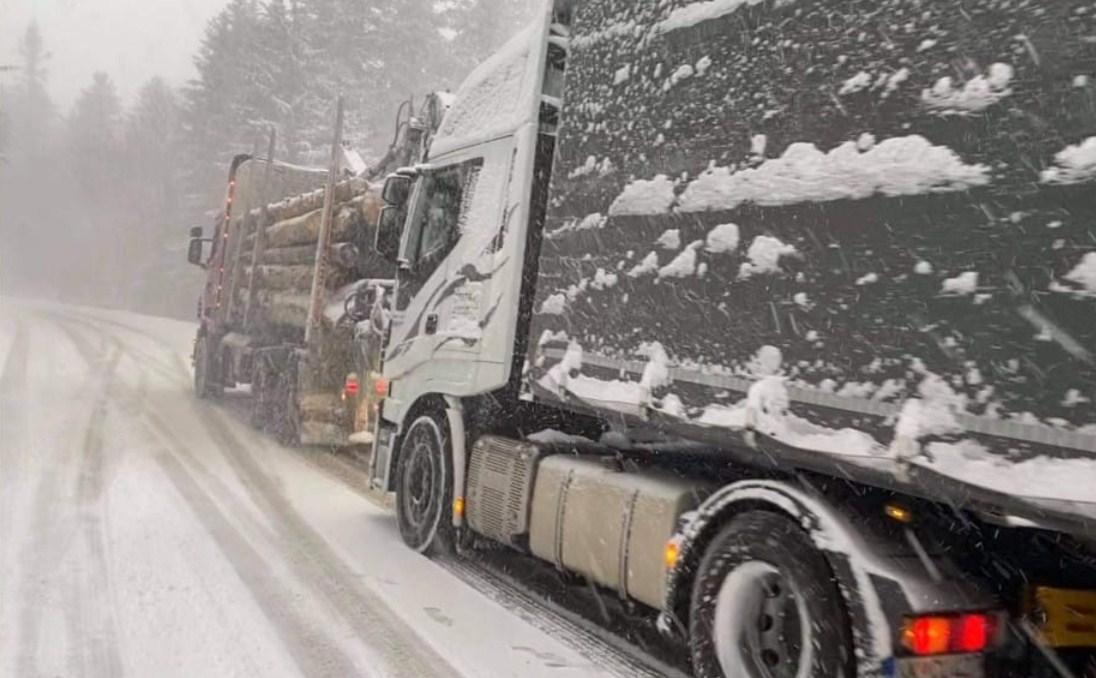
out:
<path id="1" fill-rule="evenodd" d="M 0 294 L 192 318 L 189 227 L 270 128 L 319 163 L 333 101 L 384 154 L 400 102 L 455 88 L 534 0 L 0 3 Z"/>

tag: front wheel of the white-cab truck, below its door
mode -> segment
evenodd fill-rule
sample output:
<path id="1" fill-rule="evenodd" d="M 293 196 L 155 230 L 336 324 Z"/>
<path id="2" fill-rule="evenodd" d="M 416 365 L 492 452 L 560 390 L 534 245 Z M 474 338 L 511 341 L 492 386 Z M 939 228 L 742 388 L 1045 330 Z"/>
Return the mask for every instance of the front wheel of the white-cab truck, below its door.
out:
<path id="1" fill-rule="evenodd" d="M 454 552 L 453 456 L 448 426 L 422 415 L 400 443 L 396 466 L 396 519 L 400 537 L 427 555 Z"/>

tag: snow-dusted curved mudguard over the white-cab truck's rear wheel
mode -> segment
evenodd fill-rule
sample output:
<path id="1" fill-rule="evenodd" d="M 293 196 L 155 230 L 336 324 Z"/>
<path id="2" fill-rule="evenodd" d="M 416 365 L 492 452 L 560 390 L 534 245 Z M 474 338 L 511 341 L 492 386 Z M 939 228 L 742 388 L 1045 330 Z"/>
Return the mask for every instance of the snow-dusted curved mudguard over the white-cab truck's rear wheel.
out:
<path id="1" fill-rule="evenodd" d="M 798 525 L 822 554 L 841 593 L 850 624 L 857 675 L 872 676 L 892 662 L 893 630 L 882 596 L 860 559 L 854 527 L 840 508 L 786 481 L 742 481 L 710 495 L 688 515 L 674 535 L 675 565 L 666 572 L 660 628 L 686 637 L 693 582 L 708 545 L 735 516 L 747 512 L 775 513 Z M 889 591 L 888 591 L 889 593 Z M 886 674 L 883 674 L 886 675 Z"/>

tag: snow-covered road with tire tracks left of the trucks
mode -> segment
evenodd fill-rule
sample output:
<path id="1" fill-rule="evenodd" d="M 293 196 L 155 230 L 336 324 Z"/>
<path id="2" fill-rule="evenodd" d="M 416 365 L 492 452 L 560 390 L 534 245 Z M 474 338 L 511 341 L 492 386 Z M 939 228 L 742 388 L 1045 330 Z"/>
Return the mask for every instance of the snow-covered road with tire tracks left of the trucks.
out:
<path id="1" fill-rule="evenodd" d="M 649 675 L 196 400 L 192 336 L 0 299 L 0 676 Z"/>

